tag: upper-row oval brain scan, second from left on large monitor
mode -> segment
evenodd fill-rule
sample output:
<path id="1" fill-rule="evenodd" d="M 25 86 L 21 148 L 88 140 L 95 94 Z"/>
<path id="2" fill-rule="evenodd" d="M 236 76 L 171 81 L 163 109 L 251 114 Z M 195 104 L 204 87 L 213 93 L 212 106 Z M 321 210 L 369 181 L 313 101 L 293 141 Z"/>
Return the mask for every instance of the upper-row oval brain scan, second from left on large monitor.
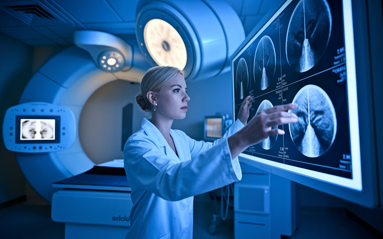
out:
<path id="1" fill-rule="evenodd" d="M 259 89 L 266 89 L 273 80 L 276 66 L 275 48 L 269 36 L 263 36 L 254 56 L 254 80 Z"/>

